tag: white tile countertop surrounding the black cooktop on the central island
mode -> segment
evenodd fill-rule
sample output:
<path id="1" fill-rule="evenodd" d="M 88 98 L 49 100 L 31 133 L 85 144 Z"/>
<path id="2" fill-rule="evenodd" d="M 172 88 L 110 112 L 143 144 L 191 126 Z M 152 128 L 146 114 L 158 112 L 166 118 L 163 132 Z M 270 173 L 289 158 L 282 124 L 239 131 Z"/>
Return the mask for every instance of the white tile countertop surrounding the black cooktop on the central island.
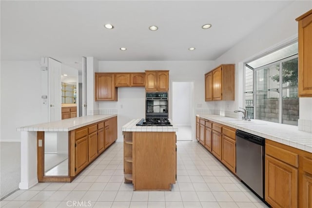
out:
<path id="1" fill-rule="evenodd" d="M 137 122 L 139 122 L 141 119 L 133 119 L 127 124 L 122 126 L 122 131 L 139 131 L 139 132 L 172 132 L 177 131 L 177 127 L 175 125 L 173 126 L 136 126 Z M 172 124 L 172 121 L 169 119 L 170 123 Z"/>

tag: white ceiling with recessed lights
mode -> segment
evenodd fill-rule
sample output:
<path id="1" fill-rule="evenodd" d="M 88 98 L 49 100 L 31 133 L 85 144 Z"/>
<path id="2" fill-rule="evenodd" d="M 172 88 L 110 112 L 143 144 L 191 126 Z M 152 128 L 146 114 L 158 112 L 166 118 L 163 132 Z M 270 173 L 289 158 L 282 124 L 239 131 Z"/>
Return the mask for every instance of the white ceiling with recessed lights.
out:
<path id="1" fill-rule="evenodd" d="M 290 3 L 1 0 L 1 60 L 52 57 L 72 66 L 81 62 L 81 57 L 100 61 L 215 60 Z M 104 28 L 106 23 L 115 28 Z M 206 23 L 212 27 L 201 29 Z M 150 31 L 150 25 L 159 29 Z M 189 47 L 196 50 L 189 51 Z"/>

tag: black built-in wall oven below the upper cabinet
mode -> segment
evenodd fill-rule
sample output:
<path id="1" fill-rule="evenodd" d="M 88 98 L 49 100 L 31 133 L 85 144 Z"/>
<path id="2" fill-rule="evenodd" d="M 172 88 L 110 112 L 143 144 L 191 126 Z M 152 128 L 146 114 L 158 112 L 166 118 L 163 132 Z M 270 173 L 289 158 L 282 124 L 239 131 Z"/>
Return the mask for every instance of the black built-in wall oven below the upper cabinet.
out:
<path id="1" fill-rule="evenodd" d="M 168 118 L 168 92 L 147 92 L 146 118 Z"/>

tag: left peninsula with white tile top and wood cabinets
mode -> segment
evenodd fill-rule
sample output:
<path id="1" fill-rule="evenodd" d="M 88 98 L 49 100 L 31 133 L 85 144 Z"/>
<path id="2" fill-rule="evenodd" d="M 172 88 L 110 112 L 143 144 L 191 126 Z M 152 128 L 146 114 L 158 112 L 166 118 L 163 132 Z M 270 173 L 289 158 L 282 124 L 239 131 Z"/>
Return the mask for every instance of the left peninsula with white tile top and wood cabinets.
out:
<path id="1" fill-rule="evenodd" d="M 94 115 L 17 128 L 21 131 L 20 189 L 71 182 L 117 140 L 117 115 Z"/>

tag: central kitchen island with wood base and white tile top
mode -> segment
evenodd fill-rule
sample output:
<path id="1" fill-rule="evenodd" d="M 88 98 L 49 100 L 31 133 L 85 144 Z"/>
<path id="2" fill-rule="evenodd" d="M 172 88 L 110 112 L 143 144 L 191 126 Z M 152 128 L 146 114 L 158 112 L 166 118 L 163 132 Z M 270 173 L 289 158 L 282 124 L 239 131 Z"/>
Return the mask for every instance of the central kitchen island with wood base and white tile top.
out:
<path id="1" fill-rule="evenodd" d="M 122 126 L 125 183 L 134 190 L 171 190 L 176 183 L 175 126 Z"/>

